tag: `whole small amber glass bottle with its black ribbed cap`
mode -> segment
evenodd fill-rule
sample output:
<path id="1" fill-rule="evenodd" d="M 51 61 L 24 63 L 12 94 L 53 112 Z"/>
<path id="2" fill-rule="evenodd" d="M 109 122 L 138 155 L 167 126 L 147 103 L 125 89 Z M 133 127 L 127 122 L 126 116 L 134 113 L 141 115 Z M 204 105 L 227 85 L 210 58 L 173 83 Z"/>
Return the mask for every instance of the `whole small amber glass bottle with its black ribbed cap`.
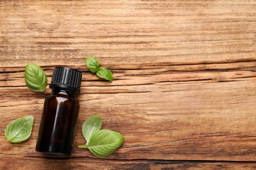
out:
<path id="1" fill-rule="evenodd" d="M 77 94 L 80 92 L 81 72 L 56 67 L 45 99 L 37 136 L 37 152 L 68 156 L 72 153 L 75 127 L 79 112 Z"/>

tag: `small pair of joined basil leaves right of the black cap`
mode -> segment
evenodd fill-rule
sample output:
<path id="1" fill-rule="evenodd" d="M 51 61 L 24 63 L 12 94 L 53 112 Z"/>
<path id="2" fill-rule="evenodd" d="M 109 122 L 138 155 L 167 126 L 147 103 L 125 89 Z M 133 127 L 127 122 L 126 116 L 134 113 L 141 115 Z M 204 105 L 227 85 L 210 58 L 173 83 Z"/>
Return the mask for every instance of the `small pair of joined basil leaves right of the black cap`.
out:
<path id="1" fill-rule="evenodd" d="M 109 69 L 100 67 L 100 63 L 96 58 L 86 58 L 85 63 L 91 72 L 96 73 L 97 76 L 105 78 L 110 82 L 113 81 L 113 74 Z"/>

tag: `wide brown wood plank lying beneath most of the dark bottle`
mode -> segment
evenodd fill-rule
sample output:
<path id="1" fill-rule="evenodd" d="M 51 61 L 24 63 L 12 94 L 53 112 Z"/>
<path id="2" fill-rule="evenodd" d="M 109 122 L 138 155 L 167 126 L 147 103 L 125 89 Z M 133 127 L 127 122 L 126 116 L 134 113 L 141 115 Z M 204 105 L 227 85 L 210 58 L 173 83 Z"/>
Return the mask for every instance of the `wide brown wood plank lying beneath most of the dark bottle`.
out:
<path id="1" fill-rule="evenodd" d="M 255 161 L 255 88 L 255 78 L 239 82 L 85 87 L 79 96 L 81 110 L 75 146 L 84 143 L 83 121 L 98 113 L 102 115 L 103 128 L 114 129 L 126 137 L 126 143 L 111 158 Z M 19 144 L 16 150 L 6 142 L 0 148 L 9 148 L 6 154 L 40 155 L 33 148 L 44 95 L 26 87 L 5 89 L 0 95 L 11 91 L 14 92 L 0 103 L 3 124 L 29 113 L 35 116 L 34 132 L 29 145 L 22 145 L 24 150 Z M 4 138 L 2 134 L 3 141 Z M 91 154 L 75 148 L 74 156 Z"/>

